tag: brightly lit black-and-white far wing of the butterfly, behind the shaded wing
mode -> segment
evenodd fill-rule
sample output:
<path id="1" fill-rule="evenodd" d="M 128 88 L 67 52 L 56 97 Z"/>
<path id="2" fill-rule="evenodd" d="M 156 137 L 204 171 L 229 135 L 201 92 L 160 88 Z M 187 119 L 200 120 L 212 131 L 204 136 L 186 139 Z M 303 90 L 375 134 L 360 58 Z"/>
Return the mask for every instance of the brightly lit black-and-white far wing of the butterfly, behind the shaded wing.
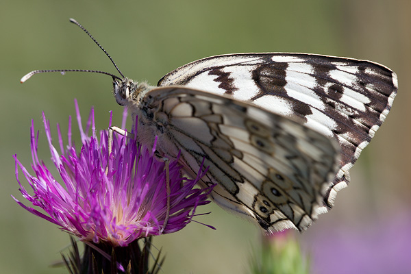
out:
<path id="1" fill-rule="evenodd" d="M 303 124 L 341 147 L 340 169 L 325 195 L 329 208 L 347 186 L 349 169 L 384 122 L 397 94 L 397 75 L 386 66 L 306 53 L 219 55 L 186 64 L 158 86 L 184 85 L 249 101 Z"/>

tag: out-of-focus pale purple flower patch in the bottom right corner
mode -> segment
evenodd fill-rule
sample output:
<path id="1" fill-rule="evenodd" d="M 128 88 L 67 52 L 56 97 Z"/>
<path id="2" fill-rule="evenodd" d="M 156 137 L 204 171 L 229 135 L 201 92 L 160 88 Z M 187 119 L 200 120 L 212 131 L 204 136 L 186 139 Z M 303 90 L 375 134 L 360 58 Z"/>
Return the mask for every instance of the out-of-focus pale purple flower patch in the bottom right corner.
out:
<path id="1" fill-rule="evenodd" d="M 317 229 L 306 242 L 313 273 L 411 273 L 411 215 L 386 216 L 363 227 Z"/>

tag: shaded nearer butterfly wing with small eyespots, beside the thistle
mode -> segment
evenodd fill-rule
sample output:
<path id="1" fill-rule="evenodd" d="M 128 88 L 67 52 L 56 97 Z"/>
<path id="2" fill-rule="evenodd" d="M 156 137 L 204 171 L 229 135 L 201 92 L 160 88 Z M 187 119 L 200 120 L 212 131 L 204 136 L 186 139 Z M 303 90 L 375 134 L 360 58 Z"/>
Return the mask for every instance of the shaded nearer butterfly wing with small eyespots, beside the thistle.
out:
<path id="1" fill-rule="evenodd" d="M 211 196 L 223 208 L 266 231 L 306 229 L 327 211 L 323 197 L 338 171 L 338 142 L 302 119 L 181 86 L 154 88 L 140 109 L 151 117 L 143 126 L 158 136 L 158 151 L 181 153 L 192 176 L 208 167 L 203 184 L 217 184 Z"/>

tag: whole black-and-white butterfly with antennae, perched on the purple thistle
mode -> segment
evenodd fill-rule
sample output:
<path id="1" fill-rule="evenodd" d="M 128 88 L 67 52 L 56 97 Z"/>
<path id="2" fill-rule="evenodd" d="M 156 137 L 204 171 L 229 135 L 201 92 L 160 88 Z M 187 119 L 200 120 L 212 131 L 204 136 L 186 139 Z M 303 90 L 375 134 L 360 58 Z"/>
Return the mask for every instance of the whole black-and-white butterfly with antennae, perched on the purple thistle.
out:
<path id="1" fill-rule="evenodd" d="M 40 72 L 50 71 L 21 81 Z M 157 86 L 121 71 L 89 72 L 112 76 L 138 142 L 156 142 L 158 155 L 178 159 L 190 176 L 208 169 L 200 184 L 215 184 L 210 197 L 268 233 L 303 231 L 332 208 L 398 88 L 381 64 L 308 53 L 216 55 L 171 71 Z"/>

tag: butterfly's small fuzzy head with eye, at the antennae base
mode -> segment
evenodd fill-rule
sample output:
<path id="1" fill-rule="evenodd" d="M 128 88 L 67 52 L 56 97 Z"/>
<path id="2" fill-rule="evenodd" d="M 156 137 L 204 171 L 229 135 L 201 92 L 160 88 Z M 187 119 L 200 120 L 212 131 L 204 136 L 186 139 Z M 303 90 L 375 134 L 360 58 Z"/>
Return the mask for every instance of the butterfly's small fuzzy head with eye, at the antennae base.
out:
<path id="1" fill-rule="evenodd" d="M 145 82 L 113 78 L 113 93 L 119 105 L 138 104 L 148 91 L 149 85 Z"/>

